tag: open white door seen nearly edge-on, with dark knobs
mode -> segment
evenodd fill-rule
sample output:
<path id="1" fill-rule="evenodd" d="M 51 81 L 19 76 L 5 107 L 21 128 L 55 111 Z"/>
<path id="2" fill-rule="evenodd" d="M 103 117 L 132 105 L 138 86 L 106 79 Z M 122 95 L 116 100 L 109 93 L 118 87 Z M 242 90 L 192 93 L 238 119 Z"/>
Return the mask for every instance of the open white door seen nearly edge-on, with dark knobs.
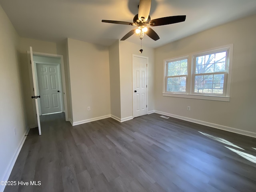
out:
<path id="1" fill-rule="evenodd" d="M 34 65 L 34 60 L 33 60 L 33 51 L 32 47 L 30 47 L 30 61 L 31 61 L 31 68 L 32 68 L 32 77 L 33 77 L 33 85 L 34 85 L 34 100 L 36 101 L 36 117 L 37 117 L 37 123 L 38 123 L 38 132 L 39 135 L 41 135 L 41 124 L 40 124 L 40 117 L 39 117 L 39 110 L 38 110 L 38 100 L 40 100 L 40 96 L 38 94 L 37 86 L 36 86 L 36 69 Z"/>

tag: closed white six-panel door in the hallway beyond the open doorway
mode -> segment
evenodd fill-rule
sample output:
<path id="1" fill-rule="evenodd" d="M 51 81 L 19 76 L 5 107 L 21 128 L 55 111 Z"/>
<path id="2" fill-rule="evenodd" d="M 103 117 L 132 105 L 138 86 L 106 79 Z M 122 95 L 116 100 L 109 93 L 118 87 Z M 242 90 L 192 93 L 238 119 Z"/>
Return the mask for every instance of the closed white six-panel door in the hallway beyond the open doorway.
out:
<path id="1" fill-rule="evenodd" d="M 60 64 L 36 64 L 42 114 L 62 112 Z"/>

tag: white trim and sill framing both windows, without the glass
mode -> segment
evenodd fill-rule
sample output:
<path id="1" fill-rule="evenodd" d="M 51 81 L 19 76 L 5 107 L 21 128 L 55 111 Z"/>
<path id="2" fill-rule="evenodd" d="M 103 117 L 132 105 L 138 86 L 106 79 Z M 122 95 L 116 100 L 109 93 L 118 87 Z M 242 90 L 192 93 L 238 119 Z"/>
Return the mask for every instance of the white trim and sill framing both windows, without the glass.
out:
<path id="1" fill-rule="evenodd" d="M 228 72 L 226 75 L 226 95 L 207 95 L 207 94 L 196 94 L 193 93 L 193 68 L 194 64 L 194 57 L 199 55 L 199 54 L 208 54 L 212 52 L 218 52 L 222 50 L 228 50 L 228 60 L 227 60 L 227 65 L 228 65 Z M 181 60 L 181 59 L 188 59 L 188 75 L 187 75 L 187 80 L 186 80 L 186 92 L 167 92 L 166 91 L 166 62 L 169 60 Z M 168 97 L 178 97 L 178 98 L 191 98 L 191 99 L 202 99 L 202 100 L 215 100 L 215 101 L 224 101 L 224 102 L 229 102 L 230 101 L 230 88 L 231 88 L 231 77 L 232 77 L 232 61 L 233 61 L 233 44 L 228 44 L 225 46 L 220 46 L 208 50 L 202 50 L 194 53 L 190 53 L 186 56 L 180 56 L 180 57 L 173 57 L 173 58 L 168 58 L 164 60 L 164 74 L 163 74 L 163 96 L 168 96 Z"/>

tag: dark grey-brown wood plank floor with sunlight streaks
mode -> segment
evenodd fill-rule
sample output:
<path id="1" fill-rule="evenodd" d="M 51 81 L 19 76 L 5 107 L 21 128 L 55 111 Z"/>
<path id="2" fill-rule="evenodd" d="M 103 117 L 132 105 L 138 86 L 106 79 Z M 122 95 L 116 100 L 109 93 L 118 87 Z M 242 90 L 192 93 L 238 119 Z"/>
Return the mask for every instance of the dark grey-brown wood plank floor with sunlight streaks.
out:
<path id="1" fill-rule="evenodd" d="M 159 114 L 73 127 L 54 114 L 42 136 L 30 130 L 9 178 L 41 185 L 4 192 L 255 192 L 254 148 L 254 138 Z"/>

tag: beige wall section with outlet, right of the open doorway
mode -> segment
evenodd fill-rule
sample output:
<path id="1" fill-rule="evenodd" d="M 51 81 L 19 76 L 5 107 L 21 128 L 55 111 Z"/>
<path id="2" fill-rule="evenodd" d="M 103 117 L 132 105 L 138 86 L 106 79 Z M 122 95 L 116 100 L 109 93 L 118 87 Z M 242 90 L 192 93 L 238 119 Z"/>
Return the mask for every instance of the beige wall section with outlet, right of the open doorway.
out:
<path id="1" fill-rule="evenodd" d="M 72 121 L 75 123 L 109 115 L 108 47 L 68 38 L 68 58 Z"/>

